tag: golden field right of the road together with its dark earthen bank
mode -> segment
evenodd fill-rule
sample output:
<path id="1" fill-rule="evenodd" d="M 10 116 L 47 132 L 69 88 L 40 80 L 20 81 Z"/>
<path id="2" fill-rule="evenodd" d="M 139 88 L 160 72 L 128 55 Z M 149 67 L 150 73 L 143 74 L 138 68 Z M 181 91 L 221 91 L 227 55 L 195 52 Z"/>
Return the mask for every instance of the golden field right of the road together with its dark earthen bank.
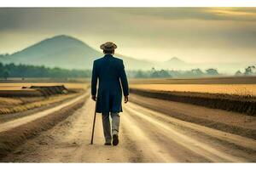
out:
<path id="1" fill-rule="evenodd" d="M 144 97 L 255 116 L 254 80 L 255 77 L 131 80 L 130 88 L 131 94 Z"/>

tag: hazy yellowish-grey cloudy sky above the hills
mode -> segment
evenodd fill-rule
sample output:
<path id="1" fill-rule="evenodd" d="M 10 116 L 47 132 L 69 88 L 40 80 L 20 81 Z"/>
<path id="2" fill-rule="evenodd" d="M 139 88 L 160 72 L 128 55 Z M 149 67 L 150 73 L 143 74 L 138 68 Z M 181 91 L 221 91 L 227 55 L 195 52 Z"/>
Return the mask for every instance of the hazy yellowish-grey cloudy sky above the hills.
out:
<path id="1" fill-rule="evenodd" d="M 256 8 L 0 8 L 0 54 L 60 34 L 137 59 L 256 62 Z"/>

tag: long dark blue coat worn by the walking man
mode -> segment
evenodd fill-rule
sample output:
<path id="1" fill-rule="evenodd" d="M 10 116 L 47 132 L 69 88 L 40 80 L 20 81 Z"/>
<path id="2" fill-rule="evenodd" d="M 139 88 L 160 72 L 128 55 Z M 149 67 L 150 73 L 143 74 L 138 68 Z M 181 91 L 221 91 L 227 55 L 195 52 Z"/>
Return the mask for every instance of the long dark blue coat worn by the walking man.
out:
<path id="1" fill-rule="evenodd" d="M 129 95 L 123 60 L 111 54 L 96 59 L 92 69 L 91 95 L 96 95 L 97 80 L 99 80 L 99 88 L 96 112 L 106 114 L 122 112 L 122 89 L 125 96 Z"/>

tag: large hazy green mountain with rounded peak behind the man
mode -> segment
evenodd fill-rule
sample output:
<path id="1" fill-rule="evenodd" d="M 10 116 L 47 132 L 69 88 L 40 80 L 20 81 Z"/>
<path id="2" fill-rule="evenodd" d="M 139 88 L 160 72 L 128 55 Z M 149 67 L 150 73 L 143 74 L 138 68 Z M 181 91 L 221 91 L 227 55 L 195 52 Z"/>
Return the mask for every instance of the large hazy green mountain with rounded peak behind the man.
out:
<path id="1" fill-rule="evenodd" d="M 26 65 L 45 65 L 67 69 L 91 69 L 94 59 L 102 57 L 102 53 L 90 48 L 79 39 L 66 35 L 51 37 L 25 48 L 15 54 L 0 57 L 0 62 Z M 126 69 L 150 69 L 153 64 L 123 55 L 115 55 L 124 59 Z"/>

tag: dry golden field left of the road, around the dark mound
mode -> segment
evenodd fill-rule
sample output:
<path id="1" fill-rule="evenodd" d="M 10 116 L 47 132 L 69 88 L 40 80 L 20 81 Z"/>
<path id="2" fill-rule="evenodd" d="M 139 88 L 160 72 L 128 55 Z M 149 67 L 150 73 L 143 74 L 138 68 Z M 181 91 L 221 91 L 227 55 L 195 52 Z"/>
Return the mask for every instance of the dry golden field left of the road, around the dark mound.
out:
<path id="1" fill-rule="evenodd" d="M 44 105 L 51 105 L 56 102 L 72 99 L 80 94 L 58 94 L 45 98 L 38 90 L 22 88 L 30 86 L 57 86 L 62 84 L 63 83 L 0 83 L 0 114 L 27 111 Z M 88 88 L 88 84 L 84 83 L 65 83 L 64 85 L 71 90 L 85 90 Z M 6 95 L 9 97 L 3 97 Z"/>

